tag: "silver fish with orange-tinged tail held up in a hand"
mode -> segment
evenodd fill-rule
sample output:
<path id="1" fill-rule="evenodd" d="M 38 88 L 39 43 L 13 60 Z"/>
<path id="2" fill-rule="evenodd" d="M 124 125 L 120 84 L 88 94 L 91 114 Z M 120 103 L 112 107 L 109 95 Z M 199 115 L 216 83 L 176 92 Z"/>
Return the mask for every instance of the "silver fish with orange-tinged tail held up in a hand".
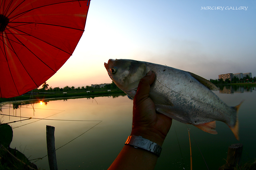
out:
<path id="1" fill-rule="evenodd" d="M 236 139 L 238 136 L 238 109 L 230 107 L 211 90 L 218 88 L 210 81 L 176 68 L 128 59 L 110 59 L 104 63 L 113 82 L 134 98 L 139 81 L 149 71 L 155 72 L 149 97 L 156 111 L 185 124 L 217 134 L 216 120 L 226 123 Z"/>

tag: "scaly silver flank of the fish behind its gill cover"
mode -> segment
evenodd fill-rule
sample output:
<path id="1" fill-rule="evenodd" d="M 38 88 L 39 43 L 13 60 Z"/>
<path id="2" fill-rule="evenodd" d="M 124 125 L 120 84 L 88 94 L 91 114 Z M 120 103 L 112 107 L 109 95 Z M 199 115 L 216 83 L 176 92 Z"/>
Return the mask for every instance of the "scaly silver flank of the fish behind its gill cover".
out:
<path id="1" fill-rule="evenodd" d="M 174 104 L 170 109 L 179 110 L 184 115 L 179 116 L 182 117 L 182 120 L 189 124 L 202 124 L 214 120 L 226 121 L 224 115 L 228 112 L 219 112 L 219 114 L 216 114 L 216 112 L 218 110 L 230 110 L 231 108 L 190 74 L 162 65 L 148 63 L 147 66 L 148 70 L 156 73 L 151 91 L 164 94 L 166 98 L 169 98 Z M 179 109 L 181 105 L 184 107 Z M 196 115 L 193 115 L 193 113 L 196 113 Z"/>

